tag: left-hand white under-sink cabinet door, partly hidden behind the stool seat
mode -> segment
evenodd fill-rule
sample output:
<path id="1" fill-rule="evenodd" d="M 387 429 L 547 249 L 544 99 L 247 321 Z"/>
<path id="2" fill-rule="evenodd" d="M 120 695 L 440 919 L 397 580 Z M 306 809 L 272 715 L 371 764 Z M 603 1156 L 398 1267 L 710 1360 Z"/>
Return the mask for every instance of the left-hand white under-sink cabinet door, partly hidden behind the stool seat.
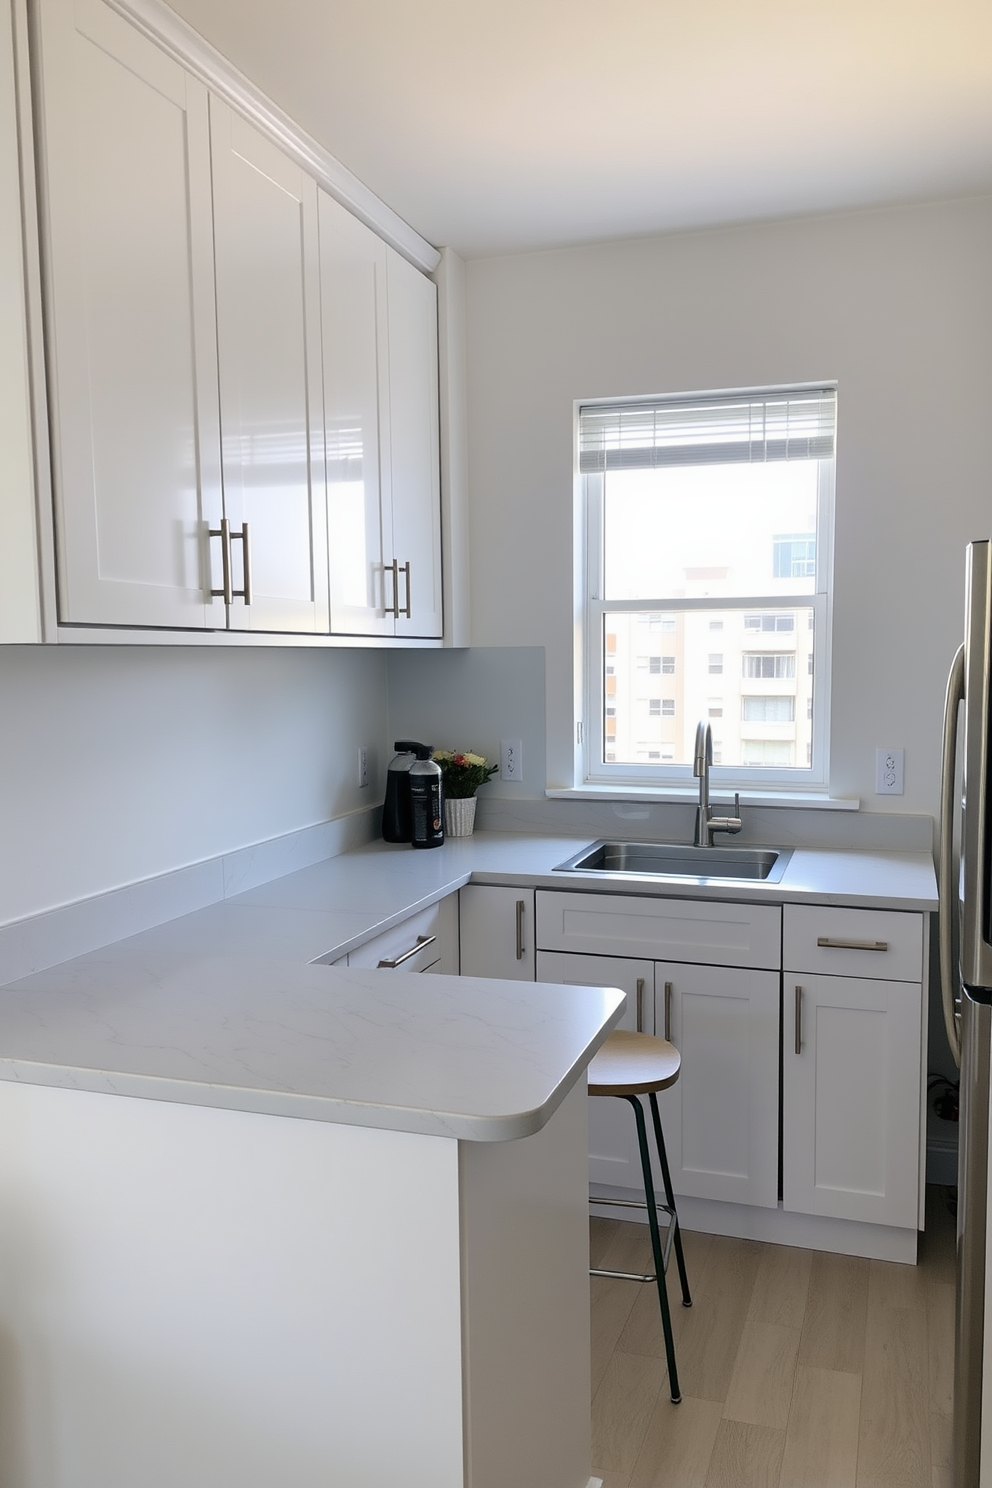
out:
<path id="1" fill-rule="evenodd" d="M 651 961 L 538 951 L 537 979 L 538 982 L 574 982 L 577 987 L 619 987 L 626 992 L 628 1001 L 617 1028 L 637 1028 L 640 1004 L 642 1007 L 642 1031 L 653 1031 L 654 966 Z M 637 1126 L 629 1101 L 610 1100 L 602 1095 L 589 1097 L 589 1181 L 616 1189 L 644 1190 Z M 623 1216 L 620 1214 L 620 1217 Z"/>

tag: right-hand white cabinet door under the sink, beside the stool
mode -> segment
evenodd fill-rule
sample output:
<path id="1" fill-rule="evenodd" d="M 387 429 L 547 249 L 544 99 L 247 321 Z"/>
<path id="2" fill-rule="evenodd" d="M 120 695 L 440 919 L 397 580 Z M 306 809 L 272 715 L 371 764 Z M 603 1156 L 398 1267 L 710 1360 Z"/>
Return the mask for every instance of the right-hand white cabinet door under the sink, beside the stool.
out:
<path id="1" fill-rule="evenodd" d="M 660 1097 L 677 1193 L 778 1204 L 779 978 L 736 967 L 657 964 L 656 1022 L 671 982 L 678 1083 Z"/>

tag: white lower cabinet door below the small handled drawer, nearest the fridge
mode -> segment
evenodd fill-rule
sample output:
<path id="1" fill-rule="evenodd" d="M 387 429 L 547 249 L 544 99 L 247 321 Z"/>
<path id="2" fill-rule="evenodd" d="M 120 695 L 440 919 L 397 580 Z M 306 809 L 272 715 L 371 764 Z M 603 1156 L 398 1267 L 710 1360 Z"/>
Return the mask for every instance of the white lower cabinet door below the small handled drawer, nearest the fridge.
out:
<path id="1" fill-rule="evenodd" d="M 787 978 L 782 1065 L 787 1210 L 876 1225 L 916 1225 L 919 1040 L 919 984 Z"/>

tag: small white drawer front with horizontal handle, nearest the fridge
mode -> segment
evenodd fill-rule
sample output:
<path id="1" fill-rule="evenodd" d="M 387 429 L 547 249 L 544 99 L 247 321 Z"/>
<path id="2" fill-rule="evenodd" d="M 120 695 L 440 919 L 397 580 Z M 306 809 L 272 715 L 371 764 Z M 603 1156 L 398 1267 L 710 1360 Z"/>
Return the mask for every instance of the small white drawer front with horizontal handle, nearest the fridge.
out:
<path id="1" fill-rule="evenodd" d="M 785 905 L 784 914 L 787 972 L 922 981 L 924 917 L 919 914 L 833 905 Z"/>

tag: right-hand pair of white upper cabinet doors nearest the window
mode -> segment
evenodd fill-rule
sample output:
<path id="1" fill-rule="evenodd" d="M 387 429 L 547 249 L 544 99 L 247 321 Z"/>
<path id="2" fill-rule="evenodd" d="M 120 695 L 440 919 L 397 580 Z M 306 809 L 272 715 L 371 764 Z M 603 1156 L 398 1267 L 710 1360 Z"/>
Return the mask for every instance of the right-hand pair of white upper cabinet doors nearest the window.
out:
<path id="1" fill-rule="evenodd" d="M 330 628 L 442 634 L 437 290 L 320 192 Z"/>

